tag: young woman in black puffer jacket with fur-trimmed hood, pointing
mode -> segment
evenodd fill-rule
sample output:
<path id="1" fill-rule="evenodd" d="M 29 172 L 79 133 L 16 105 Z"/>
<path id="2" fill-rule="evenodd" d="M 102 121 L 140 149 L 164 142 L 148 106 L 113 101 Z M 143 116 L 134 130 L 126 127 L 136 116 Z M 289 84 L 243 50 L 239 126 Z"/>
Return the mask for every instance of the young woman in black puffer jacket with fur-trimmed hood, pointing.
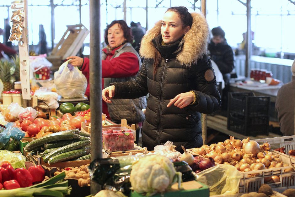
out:
<path id="1" fill-rule="evenodd" d="M 147 95 L 142 146 L 172 141 L 176 150 L 203 145 L 201 113 L 221 104 L 216 79 L 207 54 L 206 19 L 187 8 L 168 8 L 163 18 L 142 38 L 142 67 L 133 81 L 111 83 L 102 91 L 107 103 Z"/>

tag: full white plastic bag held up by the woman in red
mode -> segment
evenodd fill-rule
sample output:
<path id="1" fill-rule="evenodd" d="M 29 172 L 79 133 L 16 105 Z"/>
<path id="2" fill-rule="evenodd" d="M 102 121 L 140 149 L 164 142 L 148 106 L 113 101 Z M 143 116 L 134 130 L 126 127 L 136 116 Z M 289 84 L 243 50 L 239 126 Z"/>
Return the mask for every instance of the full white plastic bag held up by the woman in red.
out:
<path id="1" fill-rule="evenodd" d="M 87 79 L 75 66 L 63 63 L 54 73 L 54 83 L 59 95 L 63 98 L 83 97 L 87 87 Z"/>

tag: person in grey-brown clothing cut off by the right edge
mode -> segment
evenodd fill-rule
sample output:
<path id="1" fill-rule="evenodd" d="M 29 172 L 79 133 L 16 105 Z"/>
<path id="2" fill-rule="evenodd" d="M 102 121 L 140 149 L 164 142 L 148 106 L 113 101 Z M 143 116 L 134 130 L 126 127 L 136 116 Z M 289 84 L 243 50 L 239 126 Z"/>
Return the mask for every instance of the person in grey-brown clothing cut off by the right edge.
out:
<path id="1" fill-rule="evenodd" d="M 292 81 L 282 85 L 276 96 L 276 112 L 284 136 L 295 135 L 294 132 L 294 98 L 295 98 L 295 59 L 291 67 Z"/>

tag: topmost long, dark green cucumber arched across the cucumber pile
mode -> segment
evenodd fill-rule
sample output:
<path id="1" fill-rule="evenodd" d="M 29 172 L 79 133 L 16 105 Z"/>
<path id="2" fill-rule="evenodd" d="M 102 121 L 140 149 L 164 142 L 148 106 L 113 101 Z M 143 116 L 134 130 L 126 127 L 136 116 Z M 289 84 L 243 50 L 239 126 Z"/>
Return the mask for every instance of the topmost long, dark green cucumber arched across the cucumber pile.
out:
<path id="1" fill-rule="evenodd" d="M 57 133 L 40 137 L 34 141 L 29 142 L 29 144 L 27 144 L 24 149 L 26 150 L 26 152 L 28 152 L 30 150 L 33 150 L 36 147 L 44 145 L 47 142 L 53 142 L 56 140 L 72 140 L 72 139 L 80 139 L 80 138 L 81 138 L 80 135 L 74 134 L 72 132 L 60 131 Z"/>

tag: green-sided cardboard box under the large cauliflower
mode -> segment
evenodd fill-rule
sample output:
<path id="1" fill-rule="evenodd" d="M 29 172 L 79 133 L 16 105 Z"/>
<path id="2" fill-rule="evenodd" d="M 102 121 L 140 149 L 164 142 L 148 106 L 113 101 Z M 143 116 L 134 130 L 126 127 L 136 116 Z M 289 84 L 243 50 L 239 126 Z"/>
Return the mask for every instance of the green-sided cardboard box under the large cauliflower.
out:
<path id="1" fill-rule="evenodd" d="M 153 197 L 187 197 L 187 196 L 202 196 L 209 197 L 209 187 L 198 181 L 188 181 L 182 183 L 183 190 L 178 190 L 178 183 L 174 183 L 171 189 L 163 194 L 156 194 Z M 131 192 L 131 197 L 143 197 L 144 195 L 137 192 Z"/>

